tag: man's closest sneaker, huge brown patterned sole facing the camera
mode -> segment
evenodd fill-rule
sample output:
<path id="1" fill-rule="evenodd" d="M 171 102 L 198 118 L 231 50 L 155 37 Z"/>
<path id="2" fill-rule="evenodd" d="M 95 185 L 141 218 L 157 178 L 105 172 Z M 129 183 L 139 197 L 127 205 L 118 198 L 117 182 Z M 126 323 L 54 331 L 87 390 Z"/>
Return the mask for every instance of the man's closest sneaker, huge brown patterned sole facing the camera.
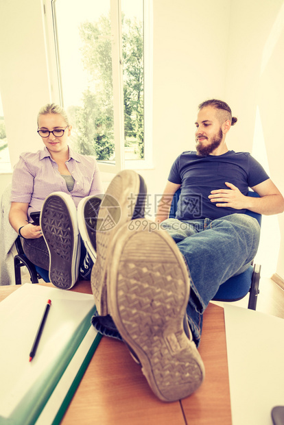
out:
<path id="1" fill-rule="evenodd" d="M 202 384 L 204 365 L 184 318 L 189 275 L 165 230 L 146 219 L 115 235 L 108 264 L 108 308 L 156 396 L 173 402 Z"/>

